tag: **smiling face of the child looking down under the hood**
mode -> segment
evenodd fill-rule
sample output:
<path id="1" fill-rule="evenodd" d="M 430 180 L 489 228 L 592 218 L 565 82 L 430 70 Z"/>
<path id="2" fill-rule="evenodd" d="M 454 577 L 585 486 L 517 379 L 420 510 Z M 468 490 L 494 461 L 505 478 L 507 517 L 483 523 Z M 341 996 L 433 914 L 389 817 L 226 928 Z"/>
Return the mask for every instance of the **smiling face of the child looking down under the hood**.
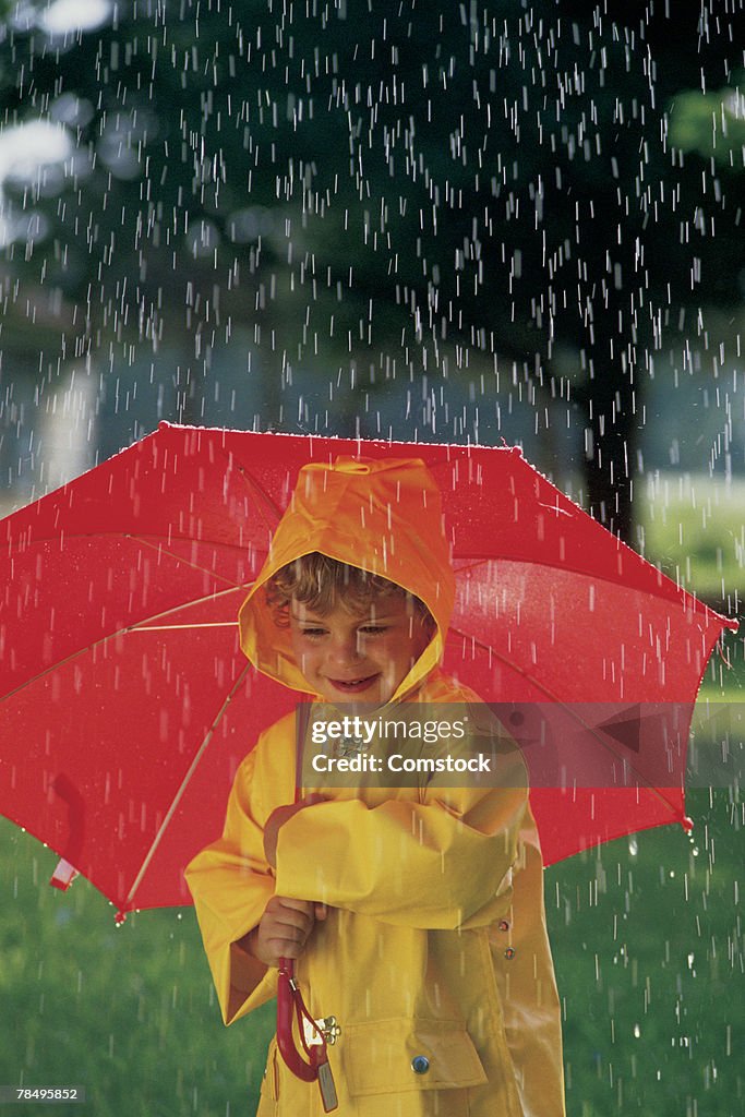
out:
<path id="1" fill-rule="evenodd" d="M 311 689 L 333 703 L 384 705 L 430 640 L 421 617 L 401 596 L 373 602 L 363 614 L 342 605 L 314 613 L 293 598 L 289 628 Z"/>

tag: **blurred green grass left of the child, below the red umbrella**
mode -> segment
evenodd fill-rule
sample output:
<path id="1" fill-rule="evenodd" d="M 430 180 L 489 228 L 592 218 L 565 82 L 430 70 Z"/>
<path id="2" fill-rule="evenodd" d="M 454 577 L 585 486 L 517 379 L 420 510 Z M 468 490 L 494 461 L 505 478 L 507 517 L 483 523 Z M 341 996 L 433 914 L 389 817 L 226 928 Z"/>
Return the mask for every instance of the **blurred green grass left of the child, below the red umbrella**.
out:
<path id="1" fill-rule="evenodd" d="M 48 886 L 56 862 L 0 819 L 0 1083 L 86 1088 L 85 1107 L 55 1114 L 250 1113 L 271 1013 L 223 1027 L 193 910 L 142 913 L 116 927 L 84 879 L 67 892 Z"/>

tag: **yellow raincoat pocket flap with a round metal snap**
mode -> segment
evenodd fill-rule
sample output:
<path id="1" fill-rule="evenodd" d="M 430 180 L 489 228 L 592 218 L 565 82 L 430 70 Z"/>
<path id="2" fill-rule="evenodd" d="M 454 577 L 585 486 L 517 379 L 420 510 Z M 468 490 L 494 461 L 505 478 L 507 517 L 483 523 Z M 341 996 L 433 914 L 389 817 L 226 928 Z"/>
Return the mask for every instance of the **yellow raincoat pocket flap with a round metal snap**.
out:
<path id="1" fill-rule="evenodd" d="M 394 1019 L 347 1024 L 343 1062 L 353 1097 L 462 1090 L 487 1080 L 460 1021 Z"/>

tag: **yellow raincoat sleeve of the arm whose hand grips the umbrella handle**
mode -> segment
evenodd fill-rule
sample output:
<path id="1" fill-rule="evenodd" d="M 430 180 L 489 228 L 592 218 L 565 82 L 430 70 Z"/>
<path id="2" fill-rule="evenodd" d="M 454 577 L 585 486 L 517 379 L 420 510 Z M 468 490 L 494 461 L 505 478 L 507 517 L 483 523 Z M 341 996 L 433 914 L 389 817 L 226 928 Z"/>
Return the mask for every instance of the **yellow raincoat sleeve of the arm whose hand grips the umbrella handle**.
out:
<path id="1" fill-rule="evenodd" d="M 237 945 L 258 925 L 275 894 L 259 821 L 265 811 L 257 753 L 258 746 L 236 774 L 222 838 L 198 853 L 185 870 L 226 1024 L 270 1000 L 277 989 L 276 970 Z"/>

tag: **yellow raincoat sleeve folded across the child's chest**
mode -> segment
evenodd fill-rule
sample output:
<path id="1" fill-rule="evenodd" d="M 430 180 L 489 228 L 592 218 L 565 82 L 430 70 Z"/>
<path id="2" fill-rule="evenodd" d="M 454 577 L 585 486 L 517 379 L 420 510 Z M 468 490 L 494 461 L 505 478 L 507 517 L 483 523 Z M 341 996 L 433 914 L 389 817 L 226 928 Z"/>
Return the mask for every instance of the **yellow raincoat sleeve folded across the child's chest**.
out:
<path id="1" fill-rule="evenodd" d="M 527 805 L 522 755 L 512 738 L 503 745 L 493 786 L 433 780 L 419 801 L 335 800 L 299 811 L 279 830 L 277 891 L 422 929 L 502 917 Z"/>

